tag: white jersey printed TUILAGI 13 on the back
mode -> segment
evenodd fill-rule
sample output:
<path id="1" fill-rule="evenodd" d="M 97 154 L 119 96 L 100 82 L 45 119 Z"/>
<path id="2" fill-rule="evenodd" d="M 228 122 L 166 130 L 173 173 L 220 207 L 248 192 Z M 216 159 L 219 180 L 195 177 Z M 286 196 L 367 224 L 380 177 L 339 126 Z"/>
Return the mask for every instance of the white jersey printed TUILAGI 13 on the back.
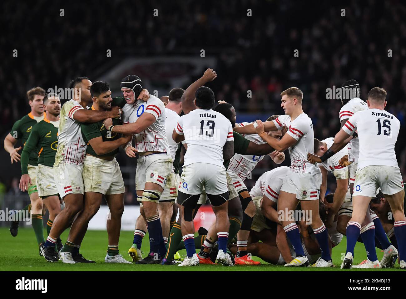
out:
<path id="1" fill-rule="evenodd" d="M 224 167 L 223 146 L 233 141 L 231 122 L 212 109 L 195 109 L 181 116 L 176 133 L 185 135 L 188 145 L 184 166 L 207 163 Z"/>

